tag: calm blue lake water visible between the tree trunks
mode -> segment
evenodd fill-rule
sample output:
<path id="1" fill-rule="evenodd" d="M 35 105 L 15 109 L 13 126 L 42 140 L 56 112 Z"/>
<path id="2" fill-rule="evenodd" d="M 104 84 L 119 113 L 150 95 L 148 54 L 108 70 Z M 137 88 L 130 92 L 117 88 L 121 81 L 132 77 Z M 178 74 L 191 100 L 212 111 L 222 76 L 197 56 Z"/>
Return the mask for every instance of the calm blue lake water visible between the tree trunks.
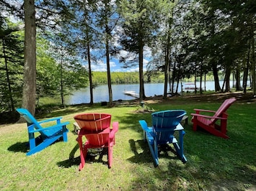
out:
<path id="1" fill-rule="evenodd" d="M 183 83 L 183 90 L 187 86 L 187 83 Z M 223 82 L 220 82 L 222 85 Z M 197 83 L 197 87 L 199 88 L 200 83 Z M 231 83 L 232 85 L 232 83 Z M 178 92 L 181 92 L 181 85 L 179 85 Z M 203 83 L 204 87 L 204 83 Z M 231 86 L 232 87 L 232 86 Z M 145 83 L 144 84 L 145 94 L 147 97 L 154 95 L 163 95 L 164 94 L 164 83 Z M 169 87 L 168 87 L 169 90 Z M 214 90 L 214 82 L 208 81 L 206 82 L 206 90 Z M 135 91 L 139 93 L 139 84 L 115 84 L 112 85 L 112 100 L 133 100 L 134 98 L 130 95 L 125 95 L 124 91 Z M 100 103 L 102 101 L 109 101 L 108 98 L 108 88 L 107 85 L 99 85 L 93 89 L 93 99 L 94 103 Z M 74 105 L 80 103 L 89 103 L 89 87 L 74 91 L 73 95 L 69 95 L 66 98 L 66 104 Z"/>

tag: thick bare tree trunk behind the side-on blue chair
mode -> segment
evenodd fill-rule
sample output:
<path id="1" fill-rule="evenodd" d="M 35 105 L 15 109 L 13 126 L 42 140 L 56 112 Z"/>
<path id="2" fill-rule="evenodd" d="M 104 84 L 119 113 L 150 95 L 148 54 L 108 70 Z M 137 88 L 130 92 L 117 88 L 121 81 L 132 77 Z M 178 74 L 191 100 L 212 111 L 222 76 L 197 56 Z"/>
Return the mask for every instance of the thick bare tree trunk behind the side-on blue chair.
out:
<path id="1" fill-rule="evenodd" d="M 36 28 L 35 1 L 25 0 L 25 56 L 22 108 L 35 115 L 36 93 Z"/>

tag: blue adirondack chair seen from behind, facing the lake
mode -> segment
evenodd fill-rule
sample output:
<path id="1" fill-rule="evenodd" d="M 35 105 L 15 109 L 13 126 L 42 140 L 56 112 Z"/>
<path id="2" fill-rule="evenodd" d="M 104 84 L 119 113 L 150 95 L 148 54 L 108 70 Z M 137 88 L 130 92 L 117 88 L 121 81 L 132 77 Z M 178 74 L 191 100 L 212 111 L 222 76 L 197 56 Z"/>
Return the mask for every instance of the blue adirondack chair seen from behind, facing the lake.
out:
<path id="1" fill-rule="evenodd" d="M 183 154 L 183 136 L 185 131 L 183 131 L 184 128 L 180 124 L 185 114 L 186 111 L 183 110 L 167 110 L 152 113 L 152 126 L 150 127 L 146 121 L 139 121 L 144 130 L 144 141 L 147 141 L 149 144 L 155 166 L 159 165 L 158 146 L 161 144 L 173 144 L 182 162 L 187 162 Z M 179 131 L 179 141 L 174 136 L 175 131 Z"/>

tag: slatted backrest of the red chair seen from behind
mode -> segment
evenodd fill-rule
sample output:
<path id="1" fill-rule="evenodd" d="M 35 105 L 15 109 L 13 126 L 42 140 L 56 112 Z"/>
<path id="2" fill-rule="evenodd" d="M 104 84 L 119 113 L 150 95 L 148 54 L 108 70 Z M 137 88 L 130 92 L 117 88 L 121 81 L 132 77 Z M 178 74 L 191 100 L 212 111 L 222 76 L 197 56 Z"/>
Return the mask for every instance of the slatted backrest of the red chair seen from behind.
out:
<path id="1" fill-rule="evenodd" d="M 110 127 L 111 115 L 107 113 L 81 113 L 74 116 L 81 129 L 97 132 Z"/>

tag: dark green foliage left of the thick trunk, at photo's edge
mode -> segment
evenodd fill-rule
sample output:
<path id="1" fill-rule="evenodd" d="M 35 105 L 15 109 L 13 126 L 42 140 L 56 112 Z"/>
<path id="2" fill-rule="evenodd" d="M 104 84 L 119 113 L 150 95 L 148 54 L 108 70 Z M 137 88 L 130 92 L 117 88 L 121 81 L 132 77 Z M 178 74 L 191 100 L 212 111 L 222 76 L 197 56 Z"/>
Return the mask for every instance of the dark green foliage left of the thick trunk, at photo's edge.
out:
<path id="1" fill-rule="evenodd" d="M 0 21 L 0 103 L 2 111 L 14 111 L 21 100 L 23 72 L 23 34 L 17 24 Z"/>

